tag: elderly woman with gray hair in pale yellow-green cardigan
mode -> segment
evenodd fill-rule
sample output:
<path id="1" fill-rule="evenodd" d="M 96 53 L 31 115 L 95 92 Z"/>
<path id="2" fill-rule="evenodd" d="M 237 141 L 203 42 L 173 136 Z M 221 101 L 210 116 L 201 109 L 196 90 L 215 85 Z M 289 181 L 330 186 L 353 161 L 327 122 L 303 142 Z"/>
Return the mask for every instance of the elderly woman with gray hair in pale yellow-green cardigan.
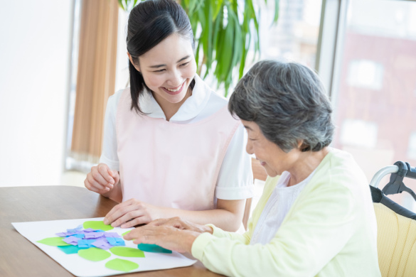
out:
<path id="1" fill-rule="evenodd" d="M 190 252 L 227 276 L 380 276 L 368 182 L 350 154 L 329 148 L 332 109 L 319 77 L 297 63 L 262 61 L 228 108 L 269 175 L 248 232 L 173 218 L 124 238 Z"/>

